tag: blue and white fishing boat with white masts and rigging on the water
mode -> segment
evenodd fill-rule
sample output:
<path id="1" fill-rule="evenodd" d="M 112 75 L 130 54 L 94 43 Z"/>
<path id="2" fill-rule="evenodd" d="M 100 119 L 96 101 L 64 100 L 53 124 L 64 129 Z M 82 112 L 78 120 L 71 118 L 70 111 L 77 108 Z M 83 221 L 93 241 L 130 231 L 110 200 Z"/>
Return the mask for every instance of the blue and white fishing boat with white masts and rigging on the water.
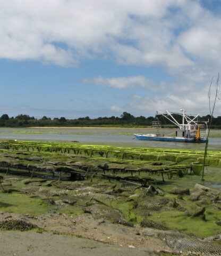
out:
<path id="1" fill-rule="evenodd" d="M 185 114 L 185 110 L 181 109 L 182 113 L 170 113 L 166 110 L 166 113 L 157 110 L 157 115 L 162 115 L 177 127 L 179 127 L 179 131 L 175 132 L 175 136 L 165 136 L 164 134 L 160 133 L 150 133 L 150 134 L 133 134 L 135 138 L 138 140 L 152 140 L 152 141 L 177 141 L 177 142 L 206 142 L 207 135 L 208 135 L 208 121 L 206 122 L 199 122 L 198 117 L 199 114 L 196 116 L 192 116 L 191 114 Z M 182 116 L 182 124 L 180 124 L 173 114 L 181 115 Z M 155 121 L 155 128 L 156 126 L 160 125 L 159 121 Z M 157 124 L 157 125 L 156 125 Z M 206 128 L 204 133 L 201 132 L 202 128 Z"/>

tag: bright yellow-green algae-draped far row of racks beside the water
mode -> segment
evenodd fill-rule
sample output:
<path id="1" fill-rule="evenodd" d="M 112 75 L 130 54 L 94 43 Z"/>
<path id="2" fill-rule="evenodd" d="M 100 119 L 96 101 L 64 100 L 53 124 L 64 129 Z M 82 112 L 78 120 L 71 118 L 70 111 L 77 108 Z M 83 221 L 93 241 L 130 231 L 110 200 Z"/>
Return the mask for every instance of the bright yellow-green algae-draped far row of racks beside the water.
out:
<path id="1" fill-rule="evenodd" d="M 50 153 L 84 154 L 86 156 L 103 156 L 106 158 L 137 159 L 145 161 L 173 161 L 176 163 L 193 159 L 203 163 L 203 151 L 165 148 L 125 148 L 103 145 L 79 145 L 73 143 L 6 141 L 1 143 L 4 149 L 46 151 Z M 221 166 L 220 151 L 209 151 L 206 164 Z"/>

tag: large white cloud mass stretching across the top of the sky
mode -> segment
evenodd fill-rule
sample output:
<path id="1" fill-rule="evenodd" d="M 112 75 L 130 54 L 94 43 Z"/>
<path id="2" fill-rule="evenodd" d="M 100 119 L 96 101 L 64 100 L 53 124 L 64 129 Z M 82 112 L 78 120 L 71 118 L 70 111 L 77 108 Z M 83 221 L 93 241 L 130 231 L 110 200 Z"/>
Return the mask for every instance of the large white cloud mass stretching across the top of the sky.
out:
<path id="1" fill-rule="evenodd" d="M 119 63 L 176 69 L 195 64 L 185 51 L 211 59 L 201 49 L 221 49 L 221 19 L 191 0 L 2 0 L 0 14 L 6 59 L 70 66 L 111 52 Z"/>

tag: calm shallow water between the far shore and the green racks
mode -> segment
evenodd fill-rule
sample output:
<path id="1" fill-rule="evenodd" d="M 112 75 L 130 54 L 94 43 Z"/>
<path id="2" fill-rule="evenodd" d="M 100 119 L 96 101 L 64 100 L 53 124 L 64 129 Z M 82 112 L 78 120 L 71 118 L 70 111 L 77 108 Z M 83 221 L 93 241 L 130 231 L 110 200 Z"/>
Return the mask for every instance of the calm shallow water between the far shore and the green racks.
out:
<path id="1" fill-rule="evenodd" d="M 177 129 L 162 129 L 165 135 L 175 132 Z M 28 132 L 28 133 L 25 133 Z M 31 133 L 33 132 L 33 133 Z M 78 141 L 82 144 L 112 145 L 121 147 L 145 147 L 145 148 L 177 148 L 189 150 L 203 150 L 205 143 L 142 141 L 134 139 L 133 133 L 157 133 L 153 129 L 99 129 L 99 128 L 1 128 L 0 139 L 13 140 L 47 140 L 47 141 Z M 218 130 L 211 133 L 220 134 Z M 209 150 L 221 149 L 221 138 L 209 138 Z"/>

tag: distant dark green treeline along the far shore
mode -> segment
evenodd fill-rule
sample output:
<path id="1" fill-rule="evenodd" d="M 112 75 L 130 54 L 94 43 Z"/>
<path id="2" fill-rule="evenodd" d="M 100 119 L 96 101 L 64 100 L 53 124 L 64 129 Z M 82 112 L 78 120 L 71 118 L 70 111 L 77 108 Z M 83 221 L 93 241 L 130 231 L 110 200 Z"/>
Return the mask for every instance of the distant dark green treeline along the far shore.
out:
<path id="1" fill-rule="evenodd" d="M 182 116 L 174 114 L 173 115 L 177 121 L 182 123 Z M 163 127 L 173 127 L 171 122 L 169 122 L 163 116 L 156 116 L 159 121 L 162 123 Z M 16 117 L 9 117 L 7 114 L 4 114 L 0 117 L 0 126 L 1 127 L 30 127 L 30 126 L 103 126 L 103 127 L 137 127 L 137 126 L 151 126 L 152 121 L 156 121 L 156 117 L 145 117 L 139 116 L 134 117 L 133 115 L 124 112 L 120 117 L 98 117 L 90 119 L 88 116 L 80 117 L 77 119 L 66 119 L 65 117 L 54 119 L 50 117 L 43 116 L 40 119 L 31 117 L 29 115 L 18 115 Z M 199 117 L 199 121 L 208 121 L 210 115 Z M 221 116 L 213 117 L 211 124 L 212 128 L 221 129 Z"/>

